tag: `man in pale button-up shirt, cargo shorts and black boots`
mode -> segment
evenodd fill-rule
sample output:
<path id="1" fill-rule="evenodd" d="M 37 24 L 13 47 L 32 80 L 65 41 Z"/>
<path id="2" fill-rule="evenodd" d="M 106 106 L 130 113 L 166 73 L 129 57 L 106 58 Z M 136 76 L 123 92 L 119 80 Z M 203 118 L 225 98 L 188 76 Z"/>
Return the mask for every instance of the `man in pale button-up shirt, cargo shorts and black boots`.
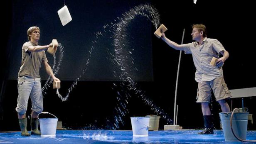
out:
<path id="1" fill-rule="evenodd" d="M 222 112 L 230 112 L 226 99 L 230 98 L 230 91 L 223 78 L 222 65 L 228 59 L 229 53 L 224 49 L 217 39 L 209 39 L 204 24 L 192 25 L 192 39 L 189 44 L 177 44 L 165 37 L 162 33 L 162 40 L 176 50 L 183 50 L 185 54 L 192 54 L 194 66 L 196 67 L 195 80 L 198 83 L 197 103 L 201 103 L 204 117 L 204 130 L 198 134 L 213 134 L 212 115 L 209 108 L 211 89 Z M 219 54 L 222 57 L 219 57 Z M 217 58 L 216 66 L 210 65 L 212 58 Z"/>

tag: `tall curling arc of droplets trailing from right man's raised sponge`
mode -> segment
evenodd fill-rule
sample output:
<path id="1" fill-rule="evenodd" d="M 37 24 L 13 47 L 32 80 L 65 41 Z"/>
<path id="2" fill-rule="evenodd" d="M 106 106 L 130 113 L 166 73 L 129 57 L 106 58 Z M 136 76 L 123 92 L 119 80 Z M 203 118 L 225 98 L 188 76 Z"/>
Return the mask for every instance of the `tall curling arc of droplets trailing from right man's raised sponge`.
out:
<path id="1" fill-rule="evenodd" d="M 144 12 L 149 12 L 150 16 L 146 15 Z M 125 14 L 123 14 L 123 18 L 119 19 L 120 22 L 118 22 L 115 27 L 116 30 L 114 32 L 114 46 L 115 46 L 115 58 L 114 58 L 114 62 L 116 62 L 116 64 L 120 67 L 121 69 L 121 76 L 120 79 L 122 81 L 128 81 L 128 89 L 129 90 L 134 90 L 135 94 L 138 95 L 139 98 L 141 98 L 143 100 L 143 102 L 147 105 L 150 105 L 152 108 L 152 110 L 161 115 L 164 119 L 167 120 L 167 124 L 170 124 L 172 122 L 172 119 L 163 111 L 163 109 L 161 109 L 160 107 L 158 107 L 157 105 L 153 104 L 153 100 L 149 100 L 149 98 L 146 98 L 145 96 L 145 92 L 143 92 L 142 90 L 140 90 L 138 88 L 138 83 L 136 83 L 135 81 L 133 81 L 133 79 L 131 78 L 131 74 L 128 73 L 126 71 L 126 69 L 128 69 L 128 64 L 127 62 L 129 61 L 129 59 L 133 59 L 132 57 L 129 58 L 129 56 L 123 56 L 125 53 L 127 53 L 126 50 L 123 49 L 123 46 L 125 45 L 123 40 L 126 37 L 125 31 L 126 31 L 126 27 L 128 26 L 128 24 L 131 22 L 131 20 L 134 19 L 134 17 L 136 15 L 142 15 L 147 17 L 149 20 L 150 18 L 152 18 L 151 22 L 155 25 L 155 28 L 157 29 L 159 23 L 160 23 L 160 18 L 158 15 L 157 10 L 151 6 L 151 5 L 140 5 L 137 7 L 134 7 L 132 9 L 130 9 L 128 12 L 125 12 Z M 129 54 L 132 54 L 129 51 Z M 123 87 L 125 84 L 121 84 L 121 86 Z M 121 100 L 122 95 L 118 94 L 118 99 Z M 126 98 L 130 98 L 130 95 L 126 95 Z M 126 103 L 127 100 L 125 101 Z M 120 101 L 118 108 L 116 108 L 116 111 L 119 111 L 118 116 L 116 117 L 116 123 L 118 124 L 119 122 L 122 123 L 122 119 L 121 117 L 124 116 L 124 113 L 122 110 L 120 110 L 119 107 L 123 107 L 123 110 L 125 112 L 127 112 L 126 110 L 126 105 L 124 103 L 124 101 Z M 122 123 L 123 124 L 123 123 Z M 119 128 L 116 124 L 115 126 L 117 128 Z"/>

